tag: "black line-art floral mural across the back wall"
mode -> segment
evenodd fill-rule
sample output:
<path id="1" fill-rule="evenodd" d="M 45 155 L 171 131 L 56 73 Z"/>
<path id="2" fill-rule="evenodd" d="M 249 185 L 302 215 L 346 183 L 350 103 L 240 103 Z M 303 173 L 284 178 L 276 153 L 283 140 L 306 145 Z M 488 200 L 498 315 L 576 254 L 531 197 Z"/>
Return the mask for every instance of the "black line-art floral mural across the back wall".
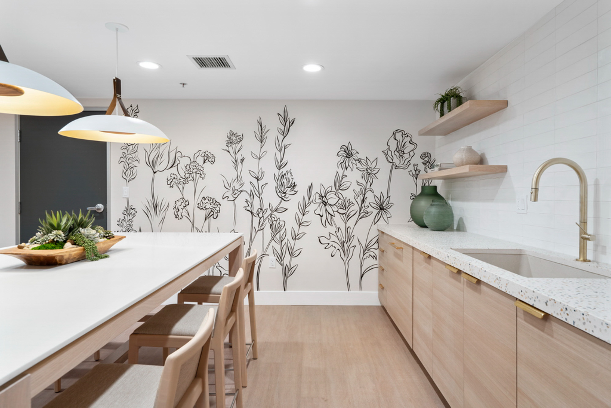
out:
<path id="1" fill-rule="evenodd" d="M 130 108 L 134 114 L 139 111 L 137 106 Z M 117 228 L 125 232 L 244 232 L 244 253 L 252 248 L 259 253 L 257 290 L 279 290 L 280 280 L 282 290 L 295 289 L 295 273 L 302 275 L 299 281 L 310 275 L 299 265 L 303 268 L 307 263 L 309 269 L 320 263 L 320 259 L 313 264 L 312 260 L 321 254 L 330 256 L 330 262 L 324 258 L 323 262 L 344 290 L 370 290 L 370 272 L 378 267 L 376 224 L 389 223 L 399 209 L 405 217 L 401 220 L 408 219 L 404 201 L 413 199 L 419 186 L 431 183 L 419 182 L 418 177 L 434 168 L 435 158 L 418 150 L 412 135 L 397 129 L 385 138 L 386 146 L 382 142 L 373 151 L 364 150 L 355 139 L 338 143 L 335 151 L 319 150 L 318 160 L 334 157 L 335 166 L 326 174 L 312 171 L 291 160 L 298 153 L 291 145 L 304 143 L 296 138 L 296 119 L 289 116 L 287 106 L 276 116 L 277 127 L 265 125 L 258 117 L 254 138 L 244 138 L 246 133 L 235 126 L 225 128 L 215 136 L 216 147 L 207 149 L 189 144 L 192 150 L 187 150 L 180 135 L 171 143 L 144 145 L 144 153 L 137 144 L 120 146 L 117 178 L 120 169 L 122 185 L 136 188 L 137 193 L 126 199 Z M 270 135 L 274 128 L 275 134 Z M 147 168 L 151 171 L 150 185 L 142 177 L 141 161 L 145 173 Z M 220 172 L 220 168 L 227 170 Z M 159 182 L 159 174 L 164 183 Z M 267 268 L 269 256 L 276 258 L 278 269 Z M 208 273 L 226 274 L 226 265 L 221 261 Z"/>

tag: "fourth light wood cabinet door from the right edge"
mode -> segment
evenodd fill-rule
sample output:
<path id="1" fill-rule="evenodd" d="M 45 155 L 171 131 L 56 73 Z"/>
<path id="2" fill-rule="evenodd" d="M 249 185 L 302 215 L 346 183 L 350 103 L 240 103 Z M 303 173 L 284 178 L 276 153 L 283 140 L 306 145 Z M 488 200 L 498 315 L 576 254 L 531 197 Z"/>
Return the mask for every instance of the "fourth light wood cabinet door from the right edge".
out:
<path id="1" fill-rule="evenodd" d="M 420 362 L 433 376 L 433 265 L 429 254 L 414 248 L 414 349 Z"/>

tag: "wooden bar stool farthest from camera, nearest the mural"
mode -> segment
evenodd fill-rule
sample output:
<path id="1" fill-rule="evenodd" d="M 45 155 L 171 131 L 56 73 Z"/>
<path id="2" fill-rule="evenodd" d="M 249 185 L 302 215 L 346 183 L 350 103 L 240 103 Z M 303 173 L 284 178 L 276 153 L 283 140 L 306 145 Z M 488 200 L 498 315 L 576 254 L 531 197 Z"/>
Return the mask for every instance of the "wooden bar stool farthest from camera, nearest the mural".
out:
<path id="1" fill-rule="evenodd" d="M 244 359 L 242 360 L 242 387 L 246 387 L 247 385 L 246 357 L 251 349 L 252 358 L 255 360 L 258 358 L 255 291 L 252 283 L 255 276 L 255 261 L 257 261 L 257 250 L 252 250 L 251 256 L 244 258 L 242 261 L 242 269 L 246 275 L 244 277 L 243 297 L 246 298 L 246 296 L 248 296 L 248 312 L 251 321 L 251 343 L 247 344 L 250 347 L 248 351 L 246 351 L 246 327 L 244 326 L 246 319 L 244 319 L 244 305 L 242 305 L 239 316 L 242 334 L 240 347 L 244 354 Z M 178 303 L 196 302 L 199 305 L 202 303 L 218 303 L 222 287 L 231 280 L 232 278 L 230 276 L 200 276 L 178 293 Z"/>

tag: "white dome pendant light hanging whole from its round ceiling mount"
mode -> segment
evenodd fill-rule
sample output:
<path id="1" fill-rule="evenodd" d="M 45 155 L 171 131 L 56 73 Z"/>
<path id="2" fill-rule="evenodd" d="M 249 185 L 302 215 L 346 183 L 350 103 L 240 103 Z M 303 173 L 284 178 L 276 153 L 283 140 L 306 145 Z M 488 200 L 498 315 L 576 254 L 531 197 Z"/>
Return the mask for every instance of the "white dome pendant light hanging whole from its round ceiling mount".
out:
<path id="1" fill-rule="evenodd" d="M 129 30 L 119 23 L 106 23 L 106 28 L 115 32 L 117 42 L 117 75 L 119 72 L 119 32 Z M 121 80 L 115 76 L 112 81 L 114 95 L 105 115 L 80 117 L 65 125 L 58 133 L 68 138 L 87 139 L 117 143 L 166 143 L 170 141 L 159 128 L 130 117 L 121 99 Z M 117 106 L 119 103 L 119 106 Z M 117 114 L 112 112 L 117 108 Z M 119 108 L 123 116 L 119 116 Z"/>

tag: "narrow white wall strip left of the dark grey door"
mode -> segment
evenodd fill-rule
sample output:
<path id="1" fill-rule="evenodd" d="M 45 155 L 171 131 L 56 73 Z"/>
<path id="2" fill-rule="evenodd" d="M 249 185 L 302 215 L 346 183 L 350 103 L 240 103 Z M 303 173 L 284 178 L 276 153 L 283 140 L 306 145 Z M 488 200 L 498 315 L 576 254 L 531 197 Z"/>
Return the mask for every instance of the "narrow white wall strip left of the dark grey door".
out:
<path id="1" fill-rule="evenodd" d="M 0 247 L 15 245 L 15 116 L 0 113 Z"/>

